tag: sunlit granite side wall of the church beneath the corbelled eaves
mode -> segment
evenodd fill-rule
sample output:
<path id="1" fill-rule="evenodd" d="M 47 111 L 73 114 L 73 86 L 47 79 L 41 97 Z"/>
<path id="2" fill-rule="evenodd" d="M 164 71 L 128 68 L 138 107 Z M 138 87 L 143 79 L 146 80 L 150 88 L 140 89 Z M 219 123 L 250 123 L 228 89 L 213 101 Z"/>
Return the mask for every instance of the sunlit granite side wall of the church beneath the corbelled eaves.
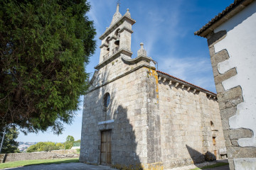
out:
<path id="1" fill-rule="evenodd" d="M 159 101 L 165 168 L 203 162 L 209 156 L 221 158 L 219 150 L 225 149 L 225 143 L 216 99 L 207 98 L 201 91 L 193 93 L 181 85 L 159 81 Z"/>

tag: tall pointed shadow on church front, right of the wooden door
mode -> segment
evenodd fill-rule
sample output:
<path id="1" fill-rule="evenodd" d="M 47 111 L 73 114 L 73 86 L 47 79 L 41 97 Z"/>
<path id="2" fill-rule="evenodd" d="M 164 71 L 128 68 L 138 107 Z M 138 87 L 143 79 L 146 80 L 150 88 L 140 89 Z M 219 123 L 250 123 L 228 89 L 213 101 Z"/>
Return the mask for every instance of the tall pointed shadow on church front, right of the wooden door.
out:
<path id="1" fill-rule="evenodd" d="M 142 170 L 142 162 L 137 155 L 135 132 L 127 118 L 127 108 L 118 106 L 114 112 L 112 129 L 112 167 L 116 169 Z M 137 140 L 143 140 L 139 138 Z M 142 150 L 141 150 L 142 153 Z"/>

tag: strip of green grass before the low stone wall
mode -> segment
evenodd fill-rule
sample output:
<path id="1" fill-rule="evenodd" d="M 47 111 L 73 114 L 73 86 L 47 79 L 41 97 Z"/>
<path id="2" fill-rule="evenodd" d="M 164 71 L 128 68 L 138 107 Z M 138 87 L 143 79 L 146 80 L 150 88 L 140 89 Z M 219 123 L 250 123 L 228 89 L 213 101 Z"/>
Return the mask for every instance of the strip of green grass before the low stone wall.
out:
<path id="1" fill-rule="evenodd" d="M 61 164 L 61 163 L 70 163 L 70 162 L 79 162 L 78 158 L 70 159 L 37 159 L 37 160 L 25 160 L 17 162 L 6 162 L 0 164 L 0 169 L 5 168 L 15 168 L 18 166 L 29 166 L 36 164 Z"/>

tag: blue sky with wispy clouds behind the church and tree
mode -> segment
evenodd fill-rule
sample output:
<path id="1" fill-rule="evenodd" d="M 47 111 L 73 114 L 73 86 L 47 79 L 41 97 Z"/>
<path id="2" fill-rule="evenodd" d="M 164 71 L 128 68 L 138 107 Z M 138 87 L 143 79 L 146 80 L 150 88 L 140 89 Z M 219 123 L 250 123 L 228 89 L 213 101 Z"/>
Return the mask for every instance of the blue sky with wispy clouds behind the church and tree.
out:
<path id="1" fill-rule="evenodd" d="M 97 50 L 86 70 L 93 74 L 100 59 L 98 38 L 110 26 L 117 0 L 89 2 L 91 10 L 87 16 L 94 21 L 97 30 Z M 129 8 L 132 18 L 137 21 L 132 27 L 132 57 L 137 57 L 139 43 L 144 42 L 147 55 L 159 63 L 160 71 L 215 92 L 207 40 L 193 33 L 231 3 L 232 0 L 121 0 L 119 12 L 124 15 Z M 79 140 L 82 110 L 77 113 L 73 125 L 65 125 L 63 135 L 53 135 L 50 131 L 27 136 L 21 133 L 17 140 L 64 142 L 68 135 Z"/>

